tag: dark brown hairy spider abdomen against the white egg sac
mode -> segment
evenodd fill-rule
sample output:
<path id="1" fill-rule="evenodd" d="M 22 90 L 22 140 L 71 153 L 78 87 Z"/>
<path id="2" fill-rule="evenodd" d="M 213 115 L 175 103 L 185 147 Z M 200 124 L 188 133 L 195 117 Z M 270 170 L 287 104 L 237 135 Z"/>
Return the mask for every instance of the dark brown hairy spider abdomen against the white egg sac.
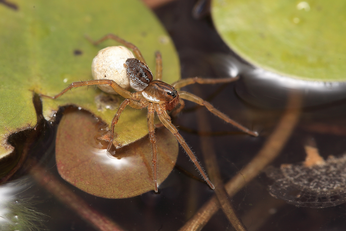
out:
<path id="1" fill-rule="evenodd" d="M 131 88 L 142 91 L 153 80 L 153 73 L 148 66 L 138 59 L 127 59 L 125 64 Z"/>

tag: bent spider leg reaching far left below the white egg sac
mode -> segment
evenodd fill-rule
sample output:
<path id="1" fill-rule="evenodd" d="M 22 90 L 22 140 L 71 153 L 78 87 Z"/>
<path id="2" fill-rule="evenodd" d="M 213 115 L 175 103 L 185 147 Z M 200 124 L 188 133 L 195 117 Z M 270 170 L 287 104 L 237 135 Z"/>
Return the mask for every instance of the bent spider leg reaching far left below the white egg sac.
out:
<path id="1" fill-rule="evenodd" d="M 46 96 L 46 95 L 40 95 L 40 96 L 44 96 L 44 97 L 51 98 L 51 99 L 56 99 L 56 98 L 64 95 L 66 93 L 66 91 L 68 91 L 68 90 L 70 90 L 72 88 L 83 87 L 83 86 L 90 86 L 90 85 L 102 85 L 102 84 L 108 84 L 119 95 L 121 95 L 124 98 L 130 98 L 130 99 L 132 98 L 132 93 L 131 92 L 129 92 L 128 90 L 125 90 L 122 87 L 120 87 L 113 80 L 108 80 L 108 79 L 93 79 L 93 80 L 87 80 L 87 81 L 73 82 L 73 83 L 70 84 L 70 86 L 68 86 L 62 92 L 60 92 L 59 94 L 57 94 L 55 96 Z"/>

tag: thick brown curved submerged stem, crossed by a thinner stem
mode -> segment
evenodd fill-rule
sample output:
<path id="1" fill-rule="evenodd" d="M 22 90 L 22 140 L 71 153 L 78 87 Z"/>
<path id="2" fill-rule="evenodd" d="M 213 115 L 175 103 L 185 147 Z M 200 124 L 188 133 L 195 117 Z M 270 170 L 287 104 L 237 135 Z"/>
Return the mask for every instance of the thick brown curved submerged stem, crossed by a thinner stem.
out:
<path id="1" fill-rule="evenodd" d="M 301 96 L 291 93 L 286 110 L 273 133 L 268 137 L 262 149 L 241 171 L 225 185 L 230 197 L 253 180 L 280 153 L 298 122 L 301 108 Z M 199 231 L 219 210 L 217 198 L 212 197 L 179 231 Z"/>

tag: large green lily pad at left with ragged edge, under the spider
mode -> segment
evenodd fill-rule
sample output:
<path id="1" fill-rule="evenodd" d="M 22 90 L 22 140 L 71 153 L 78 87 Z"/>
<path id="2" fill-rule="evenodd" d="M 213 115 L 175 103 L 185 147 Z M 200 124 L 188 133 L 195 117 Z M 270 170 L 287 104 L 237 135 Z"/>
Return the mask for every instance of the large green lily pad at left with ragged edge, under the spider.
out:
<path id="1" fill-rule="evenodd" d="M 18 10 L 0 4 L 0 157 L 13 151 L 9 134 L 36 125 L 33 91 L 53 96 L 71 82 L 92 79 L 91 62 L 99 50 L 115 41 L 93 46 L 85 39 L 113 33 L 139 47 L 155 70 L 156 50 L 163 57 L 163 80 L 179 79 L 179 60 L 169 36 L 141 1 L 16 0 Z M 54 119 L 60 106 L 76 105 L 110 123 L 116 108 L 101 108 L 101 91 L 73 89 L 52 100 L 43 98 L 43 115 Z M 121 98 L 120 98 L 121 100 Z M 119 146 L 148 132 L 146 111 L 126 108 L 115 128 Z"/>

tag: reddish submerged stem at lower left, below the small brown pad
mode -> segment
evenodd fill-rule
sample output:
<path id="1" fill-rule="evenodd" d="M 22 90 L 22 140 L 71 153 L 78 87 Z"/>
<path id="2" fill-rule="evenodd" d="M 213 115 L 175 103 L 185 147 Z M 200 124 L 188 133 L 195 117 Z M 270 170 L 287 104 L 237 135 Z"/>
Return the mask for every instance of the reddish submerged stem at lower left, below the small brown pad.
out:
<path id="1" fill-rule="evenodd" d="M 82 219 L 93 225 L 95 229 L 100 231 L 124 231 L 114 221 L 92 208 L 81 197 L 72 192 L 53 174 L 46 170 L 34 169 L 30 170 L 30 174 L 40 185 L 45 187 L 63 204 L 69 206 Z"/>

